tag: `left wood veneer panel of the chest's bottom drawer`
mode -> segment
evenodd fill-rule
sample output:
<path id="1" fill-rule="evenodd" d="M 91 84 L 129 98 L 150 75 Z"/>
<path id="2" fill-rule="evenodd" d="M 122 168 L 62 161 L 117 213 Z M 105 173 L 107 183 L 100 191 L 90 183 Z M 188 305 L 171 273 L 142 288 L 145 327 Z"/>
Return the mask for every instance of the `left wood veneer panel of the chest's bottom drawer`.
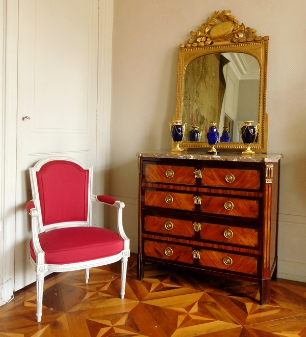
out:
<path id="1" fill-rule="evenodd" d="M 191 264 L 193 263 L 192 251 L 191 247 L 150 240 L 144 241 L 144 255 L 146 257 Z"/>

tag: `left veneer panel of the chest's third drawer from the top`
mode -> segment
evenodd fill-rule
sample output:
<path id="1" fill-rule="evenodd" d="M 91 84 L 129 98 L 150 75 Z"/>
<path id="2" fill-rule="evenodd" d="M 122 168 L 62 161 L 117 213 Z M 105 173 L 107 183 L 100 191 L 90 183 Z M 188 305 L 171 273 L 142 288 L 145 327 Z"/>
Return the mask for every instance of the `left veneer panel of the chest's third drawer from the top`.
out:
<path id="1" fill-rule="evenodd" d="M 193 222 L 145 215 L 144 230 L 154 233 L 180 235 L 184 237 L 194 236 Z"/>

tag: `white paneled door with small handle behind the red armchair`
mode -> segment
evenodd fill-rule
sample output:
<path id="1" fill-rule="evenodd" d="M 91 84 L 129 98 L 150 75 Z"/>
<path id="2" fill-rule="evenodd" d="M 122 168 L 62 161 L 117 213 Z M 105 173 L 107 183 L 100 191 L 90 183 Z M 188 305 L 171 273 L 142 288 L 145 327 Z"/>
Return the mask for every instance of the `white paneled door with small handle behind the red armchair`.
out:
<path id="1" fill-rule="evenodd" d="M 19 1 L 15 290 L 35 281 L 29 167 L 49 156 L 96 165 L 98 20 L 98 0 Z"/>

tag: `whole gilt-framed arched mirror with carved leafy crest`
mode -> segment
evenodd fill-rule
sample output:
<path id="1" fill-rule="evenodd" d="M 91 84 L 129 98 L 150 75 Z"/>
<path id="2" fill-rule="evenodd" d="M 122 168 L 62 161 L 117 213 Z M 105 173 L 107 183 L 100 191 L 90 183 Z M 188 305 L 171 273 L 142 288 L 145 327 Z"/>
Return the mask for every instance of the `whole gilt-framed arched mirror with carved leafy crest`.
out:
<path id="1" fill-rule="evenodd" d="M 216 11 L 198 31 L 179 48 L 176 110 L 173 121 L 187 123 L 180 147 L 208 149 L 206 133 L 211 121 L 226 142 L 216 148 L 244 150 L 238 124 L 260 124 L 255 152 L 268 150 L 266 80 L 268 36 L 257 36 L 231 11 Z M 189 132 L 201 132 L 199 141 L 191 141 Z M 191 132 L 192 131 L 192 132 Z M 225 134 L 224 133 L 224 134 Z M 193 137 L 194 139 L 194 137 Z M 172 149 L 175 147 L 172 141 Z"/>

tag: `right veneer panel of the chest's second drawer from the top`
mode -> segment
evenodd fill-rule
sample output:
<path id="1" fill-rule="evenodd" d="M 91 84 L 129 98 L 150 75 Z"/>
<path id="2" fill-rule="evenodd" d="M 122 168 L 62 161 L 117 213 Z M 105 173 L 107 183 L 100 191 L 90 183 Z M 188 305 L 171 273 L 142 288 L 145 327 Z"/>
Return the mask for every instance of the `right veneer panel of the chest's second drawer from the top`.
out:
<path id="1" fill-rule="evenodd" d="M 228 196 L 201 196 L 201 212 L 258 218 L 259 201 Z"/>

